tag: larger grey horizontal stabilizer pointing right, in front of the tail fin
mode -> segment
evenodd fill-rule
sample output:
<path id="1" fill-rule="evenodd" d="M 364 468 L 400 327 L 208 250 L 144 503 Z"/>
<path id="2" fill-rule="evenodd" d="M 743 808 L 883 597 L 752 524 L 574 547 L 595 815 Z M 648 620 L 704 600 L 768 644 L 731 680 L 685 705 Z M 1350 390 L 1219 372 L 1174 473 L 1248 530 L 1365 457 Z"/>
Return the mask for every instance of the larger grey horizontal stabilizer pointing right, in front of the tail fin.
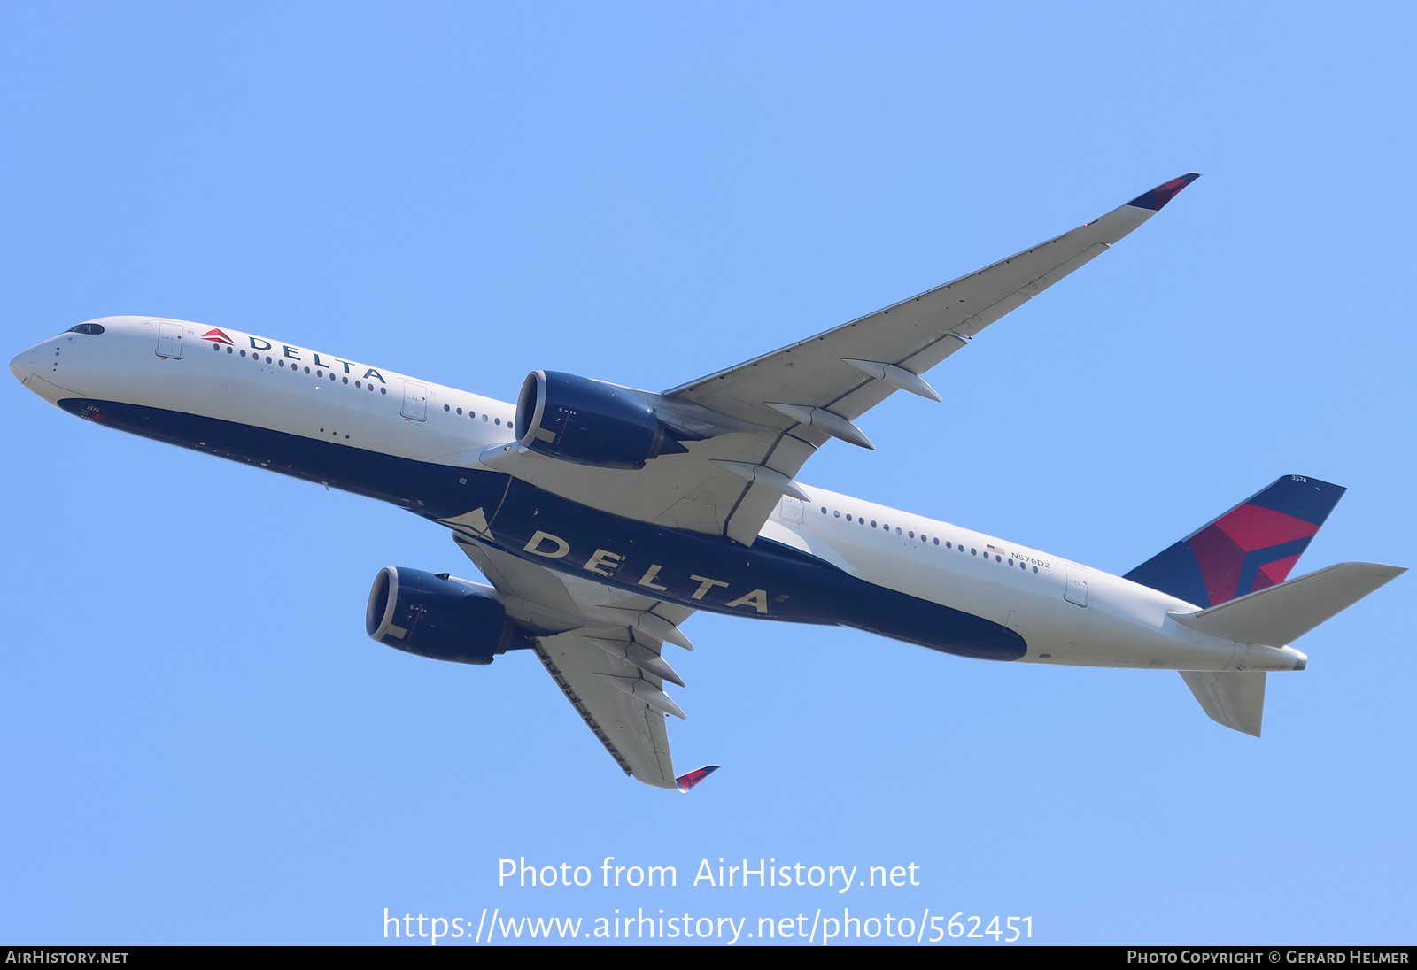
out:
<path id="1" fill-rule="evenodd" d="M 1220 606 L 1172 613 L 1170 619 L 1223 640 L 1282 647 L 1404 572 L 1374 562 L 1340 562 Z"/>

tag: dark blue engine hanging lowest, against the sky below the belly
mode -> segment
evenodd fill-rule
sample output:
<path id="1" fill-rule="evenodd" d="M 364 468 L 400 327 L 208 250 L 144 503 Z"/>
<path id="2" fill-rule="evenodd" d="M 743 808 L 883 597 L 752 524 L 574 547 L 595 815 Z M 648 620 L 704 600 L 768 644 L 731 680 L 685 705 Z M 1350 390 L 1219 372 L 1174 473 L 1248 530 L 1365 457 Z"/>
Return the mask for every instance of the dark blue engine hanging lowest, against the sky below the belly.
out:
<path id="1" fill-rule="evenodd" d="M 461 664 L 530 646 L 490 588 L 402 566 L 374 576 L 364 629 L 385 646 Z"/>

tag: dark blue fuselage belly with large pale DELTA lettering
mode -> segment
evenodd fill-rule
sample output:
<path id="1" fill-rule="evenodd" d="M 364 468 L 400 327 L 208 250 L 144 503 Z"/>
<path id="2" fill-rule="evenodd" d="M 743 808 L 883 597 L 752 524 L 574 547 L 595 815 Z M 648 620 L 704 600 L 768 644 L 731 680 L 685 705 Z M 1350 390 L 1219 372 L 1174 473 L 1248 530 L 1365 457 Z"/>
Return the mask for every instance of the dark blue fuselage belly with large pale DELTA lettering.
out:
<path id="1" fill-rule="evenodd" d="M 425 518 L 448 520 L 482 508 L 493 535 L 489 545 L 653 599 L 733 616 L 850 626 L 983 660 L 1017 660 L 1027 650 L 1009 627 L 856 579 L 769 540 L 747 548 L 721 535 L 611 515 L 497 472 L 414 462 L 215 418 L 92 399 L 65 399 L 60 406 L 145 438 L 388 501 Z M 529 552 L 538 531 L 565 544 L 565 555 Z M 560 544 L 543 540 L 536 548 L 560 551 Z M 587 565 L 612 575 L 592 574 Z M 659 566 L 649 576 L 653 586 L 639 585 L 653 566 Z M 707 579 L 716 585 L 706 589 Z M 728 606 L 735 600 L 737 606 Z"/>

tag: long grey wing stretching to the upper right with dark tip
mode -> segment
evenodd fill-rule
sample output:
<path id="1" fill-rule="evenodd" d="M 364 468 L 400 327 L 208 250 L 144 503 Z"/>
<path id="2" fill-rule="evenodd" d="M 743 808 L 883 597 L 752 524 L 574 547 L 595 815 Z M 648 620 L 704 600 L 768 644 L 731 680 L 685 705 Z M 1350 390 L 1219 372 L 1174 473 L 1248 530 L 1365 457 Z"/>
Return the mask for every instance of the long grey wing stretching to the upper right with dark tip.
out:
<path id="1" fill-rule="evenodd" d="M 921 377 L 1155 215 L 1189 173 L 1032 249 L 771 354 L 663 394 L 628 391 L 683 432 L 682 453 L 638 470 L 568 464 L 514 445 L 479 460 L 626 518 L 751 545 L 794 479 L 830 438 L 871 447 L 853 423 L 898 389 L 938 401 Z"/>

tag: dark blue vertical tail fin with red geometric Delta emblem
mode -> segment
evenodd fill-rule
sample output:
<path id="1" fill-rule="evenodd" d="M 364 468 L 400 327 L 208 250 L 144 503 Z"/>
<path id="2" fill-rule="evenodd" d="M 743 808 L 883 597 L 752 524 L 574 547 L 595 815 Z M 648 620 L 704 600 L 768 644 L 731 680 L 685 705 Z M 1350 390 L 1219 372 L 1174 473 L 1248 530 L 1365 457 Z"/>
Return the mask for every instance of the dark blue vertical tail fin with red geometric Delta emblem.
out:
<path id="1" fill-rule="evenodd" d="M 1125 578 L 1202 609 L 1278 585 L 1345 491 L 1287 474 Z"/>

